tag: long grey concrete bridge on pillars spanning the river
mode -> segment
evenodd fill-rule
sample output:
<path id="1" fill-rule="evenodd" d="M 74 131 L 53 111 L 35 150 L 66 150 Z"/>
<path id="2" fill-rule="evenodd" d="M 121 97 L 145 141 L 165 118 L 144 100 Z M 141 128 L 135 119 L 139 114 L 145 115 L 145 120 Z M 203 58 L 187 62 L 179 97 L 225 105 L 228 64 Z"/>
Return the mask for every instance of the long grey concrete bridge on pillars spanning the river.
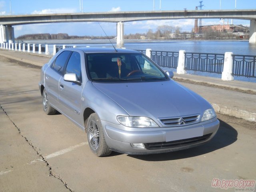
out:
<path id="1" fill-rule="evenodd" d="M 14 42 L 14 25 L 56 22 L 116 22 L 117 44 L 124 43 L 124 22 L 141 20 L 229 18 L 250 20 L 250 43 L 256 43 L 256 10 L 182 10 L 96 12 L 0 16 L 0 42 Z"/>

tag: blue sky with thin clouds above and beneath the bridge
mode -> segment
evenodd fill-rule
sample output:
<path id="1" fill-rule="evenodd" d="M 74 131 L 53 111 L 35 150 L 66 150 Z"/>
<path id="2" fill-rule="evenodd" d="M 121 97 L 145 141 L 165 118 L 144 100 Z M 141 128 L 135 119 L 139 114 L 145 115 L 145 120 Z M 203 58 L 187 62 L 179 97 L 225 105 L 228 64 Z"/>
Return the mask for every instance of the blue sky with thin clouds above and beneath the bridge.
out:
<path id="1" fill-rule="evenodd" d="M 74 13 L 80 12 L 80 0 L 0 0 L 0 15 L 10 15 L 10 2 L 12 15 L 20 14 L 47 14 L 47 13 Z M 161 9 L 160 9 L 161 2 Z M 204 10 L 235 9 L 235 0 L 204 0 Z M 154 6 L 153 6 L 154 5 Z M 199 0 L 83 0 L 84 12 L 109 11 L 150 11 L 150 10 L 194 10 Z M 256 9 L 256 0 L 236 0 L 237 9 Z M 225 24 L 228 20 L 224 21 Z M 231 21 L 229 20 L 229 23 Z M 247 20 L 234 20 L 234 24 L 250 25 Z M 202 20 L 203 25 L 223 24 L 222 20 Z M 101 23 L 108 35 L 116 35 L 115 23 Z M 182 31 L 191 31 L 194 20 L 149 20 L 126 22 L 124 33 L 144 33 L 148 29 L 156 31 L 160 25 L 179 26 Z M 30 24 L 14 26 L 15 36 L 34 33 L 68 33 L 69 35 L 104 35 L 98 23 L 56 23 L 56 24 Z"/>

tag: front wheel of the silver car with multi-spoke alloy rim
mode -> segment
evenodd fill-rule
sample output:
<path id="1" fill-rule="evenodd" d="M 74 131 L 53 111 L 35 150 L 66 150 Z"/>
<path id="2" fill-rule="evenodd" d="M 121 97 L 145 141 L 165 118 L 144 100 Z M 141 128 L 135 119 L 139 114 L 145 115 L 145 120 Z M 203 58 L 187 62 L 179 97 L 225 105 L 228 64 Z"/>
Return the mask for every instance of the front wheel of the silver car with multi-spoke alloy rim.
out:
<path id="1" fill-rule="evenodd" d="M 96 113 L 92 113 L 88 118 L 87 139 L 90 149 L 96 156 L 107 156 L 112 152 L 106 144 L 102 124 Z"/>

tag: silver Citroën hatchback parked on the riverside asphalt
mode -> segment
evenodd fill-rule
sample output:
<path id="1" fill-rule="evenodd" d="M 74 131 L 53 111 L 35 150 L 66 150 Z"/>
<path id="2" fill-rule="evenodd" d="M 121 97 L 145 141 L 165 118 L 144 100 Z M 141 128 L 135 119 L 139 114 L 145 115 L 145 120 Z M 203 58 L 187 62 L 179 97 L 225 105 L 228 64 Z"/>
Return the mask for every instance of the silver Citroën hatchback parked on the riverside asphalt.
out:
<path id="1" fill-rule="evenodd" d="M 97 156 L 152 154 L 209 141 L 219 121 L 201 96 L 141 52 L 67 48 L 42 67 L 46 114 L 57 111 L 87 132 Z"/>

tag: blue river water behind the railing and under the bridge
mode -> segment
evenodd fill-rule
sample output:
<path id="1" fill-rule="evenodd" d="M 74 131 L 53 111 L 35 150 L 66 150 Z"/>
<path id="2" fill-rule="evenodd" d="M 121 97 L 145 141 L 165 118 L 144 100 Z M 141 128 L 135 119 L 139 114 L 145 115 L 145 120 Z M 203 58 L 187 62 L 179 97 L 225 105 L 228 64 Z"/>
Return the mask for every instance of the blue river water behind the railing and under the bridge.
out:
<path id="1" fill-rule="evenodd" d="M 116 41 L 111 40 L 113 45 L 116 46 Z M 32 40 L 24 41 L 26 43 L 35 44 L 48 44 L 50 54 L 53 52 L 53 45 L 63 45 L 77 47 L 107 47 L 112 48 L 109 40 Z M 153 40 L 126 40 L 124 43 L 126 49 L 134 50 L 146 50 L 150 48 L 152 51 L 170 51 L 178 52 L 179 50 L 185 50 L 186 52 L 194 53 L 215 53 L 224 54 L 225 52 L 233 52 L 237 55 L 256 55 L 256 44 L 249 44 L 248 40 L 237 40 L 237 41 L 210 41 L 210 40 L 166 40 L 166 41 L 153 41 Z M 172 69 L 175 71 L 176 69 Z M 203 76 L 212 76 L 221 78 L 221 74 L 205 73 L 205 72 L 194 72 L 188 71 L 190 74 L 197 74 Z M 249 82 L 256 82 L 256 78 L 245 78 L 234 76 L 235 80 L 243 80 Z"/>

